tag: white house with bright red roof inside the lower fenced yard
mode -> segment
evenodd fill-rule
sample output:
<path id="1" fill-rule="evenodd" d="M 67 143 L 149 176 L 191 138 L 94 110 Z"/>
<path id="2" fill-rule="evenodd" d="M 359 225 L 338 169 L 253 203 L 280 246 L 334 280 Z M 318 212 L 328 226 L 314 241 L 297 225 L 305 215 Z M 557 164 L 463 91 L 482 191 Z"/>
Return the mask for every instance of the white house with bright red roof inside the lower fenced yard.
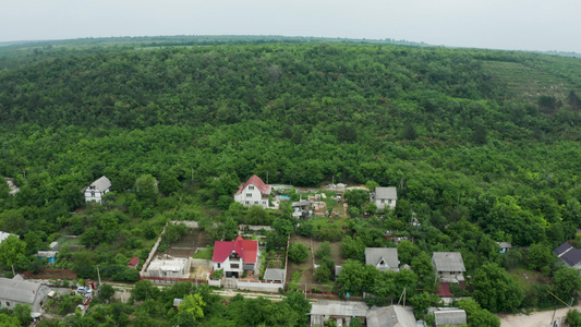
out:
<path id="1" fill-rule="evenodd" d="M 244 270 L 258 272 L 258 241 L 244 240 L 241 235 L 234 241 L 216 241 L 211 265 L 214 270 L 223 269 L 226 277 L 240 277 Z"/>

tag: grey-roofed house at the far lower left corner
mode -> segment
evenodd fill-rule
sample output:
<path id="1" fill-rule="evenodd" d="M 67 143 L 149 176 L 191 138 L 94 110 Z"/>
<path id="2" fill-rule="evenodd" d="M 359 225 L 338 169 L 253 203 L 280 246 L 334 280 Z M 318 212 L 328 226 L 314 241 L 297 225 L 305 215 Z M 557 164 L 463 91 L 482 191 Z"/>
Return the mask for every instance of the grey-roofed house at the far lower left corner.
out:
<path id="1" fill-rule="evenodd" d="M 20 275 L 0 278 L 0 307 L 13 310 L 16 304 L 28 304 L 32 315 L 38 316 L 49 291 L 48 287 L 24 280 Z"/>

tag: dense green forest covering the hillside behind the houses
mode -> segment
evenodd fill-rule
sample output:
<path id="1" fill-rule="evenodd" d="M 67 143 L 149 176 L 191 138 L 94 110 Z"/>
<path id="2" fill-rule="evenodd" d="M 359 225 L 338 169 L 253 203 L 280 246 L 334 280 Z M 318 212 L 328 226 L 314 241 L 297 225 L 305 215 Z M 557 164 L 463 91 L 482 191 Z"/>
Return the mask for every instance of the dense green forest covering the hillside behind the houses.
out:
<path id="1" fill-rule="evenodd" d="M 559 292 L 554 277 L 565 272 L 550 251 L 581 227 L 580 59 L 204 41 L 0 48 L 0 174 L 21 187 L 10 196 L 0 185 L 0 230 L 21 235 L 26 255 L 81 234 L 94 251 L 65 253 L 60 267 L 92 277 L 93 265 L 107 263 L 106 277 L 133 280 L 119 266 L 146 256 L 167 220 L 247 222 L 252 213 L 231 203 L 252 174 L 295 186 L 374 181 L 398 186 L 398 207 L 384 220 L 351 211 L 339 235 L 347 244 L 388 245 L 382 232 L 397 230 L 415 240 L 410 253 L 460 251 L 475 279 L 518 268 L 544 278 L 508 307 L 488 305 L 475 288 L 487 310 L 558 304 L 546 290 Z M 81 190 L 104 174 L 111 202 L 85 207 Z M 160 194 L 137 192 L 152 177 Z M 412 213 L 419 230 L 407 223 Z M 547 259 L 525 250 L 499 257 L 495 241 Z M 21 258 L 16 268 L 34 265 Z M 173 318 L 157 314 L 157 324 Z"/>

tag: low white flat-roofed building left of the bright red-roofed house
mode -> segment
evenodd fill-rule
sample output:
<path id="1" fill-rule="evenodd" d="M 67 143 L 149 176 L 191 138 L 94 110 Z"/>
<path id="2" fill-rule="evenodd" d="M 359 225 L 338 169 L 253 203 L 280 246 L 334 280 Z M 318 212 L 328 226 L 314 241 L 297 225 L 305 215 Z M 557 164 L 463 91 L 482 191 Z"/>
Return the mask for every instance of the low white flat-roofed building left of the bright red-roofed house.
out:
<path id="1" fill-rule="evenodd" d="M 192 266 L 189 257 L 172 257 L 165 254 L 162 257 L 157 256 L 152 261 L 149 266 L 143 270 L 142 276 L 150 277 L 154 282 L 170 281 L 172 278 L 189 278 Z"/>

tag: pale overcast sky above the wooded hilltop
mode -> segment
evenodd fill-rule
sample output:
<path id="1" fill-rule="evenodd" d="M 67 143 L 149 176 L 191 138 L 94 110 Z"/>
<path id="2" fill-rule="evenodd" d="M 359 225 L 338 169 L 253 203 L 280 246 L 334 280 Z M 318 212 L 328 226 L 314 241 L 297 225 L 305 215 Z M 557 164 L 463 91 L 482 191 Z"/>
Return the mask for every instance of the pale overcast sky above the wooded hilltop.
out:
<path id="1" fill-rule="evenodd" d="M 581 0 L 0 0 L 0 41 L 156 35 L 391 38 L 581 53 Z"/>

